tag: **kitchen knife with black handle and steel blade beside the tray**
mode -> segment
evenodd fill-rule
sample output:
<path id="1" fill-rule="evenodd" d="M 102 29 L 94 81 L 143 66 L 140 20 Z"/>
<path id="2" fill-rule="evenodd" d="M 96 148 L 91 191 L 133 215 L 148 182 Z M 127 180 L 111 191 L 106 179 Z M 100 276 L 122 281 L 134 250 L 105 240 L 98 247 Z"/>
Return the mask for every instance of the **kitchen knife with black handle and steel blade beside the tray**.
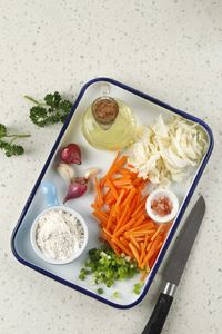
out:
<path id="1" fill-rule="evenodd" d="M 160 334 L 170 311 L 173 295 L 183 274 L 186 261 L 205 213 L 205 202 L 198 199 L 180 232 L 164 269 L 164 288 L 142 334 Z"/>

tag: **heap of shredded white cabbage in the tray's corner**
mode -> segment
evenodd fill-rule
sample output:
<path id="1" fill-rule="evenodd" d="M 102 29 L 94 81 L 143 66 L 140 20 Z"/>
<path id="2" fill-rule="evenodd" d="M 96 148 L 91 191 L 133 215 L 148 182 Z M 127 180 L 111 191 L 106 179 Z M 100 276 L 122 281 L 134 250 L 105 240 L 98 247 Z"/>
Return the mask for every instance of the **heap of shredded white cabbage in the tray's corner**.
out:
<path id="1" fill-rule="evenodd" d="M 129 163 L 140 177 L 168 186 L 171 180 L 183 180 L 200 164 L 206 146 L 206 135 L 198 124 L 182 117 L 163 121 L 160 115 L 130 146 Z"/>

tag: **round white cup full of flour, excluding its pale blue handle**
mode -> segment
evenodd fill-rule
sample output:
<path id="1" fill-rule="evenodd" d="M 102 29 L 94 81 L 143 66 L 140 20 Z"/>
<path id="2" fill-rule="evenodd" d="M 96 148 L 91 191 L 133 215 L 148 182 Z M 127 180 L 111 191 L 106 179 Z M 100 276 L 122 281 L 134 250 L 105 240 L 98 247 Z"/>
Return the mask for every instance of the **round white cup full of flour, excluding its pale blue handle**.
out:
<path id="1" fill-rule="evenodd" d="M 79 257 L 89 238 L 82 216 L 65 206 L 43 210 L 30 230 L 36 254 L 51 264 L 67 264 Z"/>

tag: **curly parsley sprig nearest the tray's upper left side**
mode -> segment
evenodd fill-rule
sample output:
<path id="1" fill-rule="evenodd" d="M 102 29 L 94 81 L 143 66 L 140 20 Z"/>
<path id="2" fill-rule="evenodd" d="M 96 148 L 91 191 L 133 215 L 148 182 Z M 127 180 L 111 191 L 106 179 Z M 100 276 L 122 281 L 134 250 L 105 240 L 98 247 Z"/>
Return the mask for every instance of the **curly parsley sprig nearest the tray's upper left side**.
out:
<path id="1" fill-rule="evenodd" d="M 24 98 L 36 105 L 30 109 L 29 117 L 39 127 L 59 121 L 64 122 L 72 107 L 72 102 L 62 99 L 58 91 L 46 95 L 42 102 L 37 101 L 28 95 Z"/>

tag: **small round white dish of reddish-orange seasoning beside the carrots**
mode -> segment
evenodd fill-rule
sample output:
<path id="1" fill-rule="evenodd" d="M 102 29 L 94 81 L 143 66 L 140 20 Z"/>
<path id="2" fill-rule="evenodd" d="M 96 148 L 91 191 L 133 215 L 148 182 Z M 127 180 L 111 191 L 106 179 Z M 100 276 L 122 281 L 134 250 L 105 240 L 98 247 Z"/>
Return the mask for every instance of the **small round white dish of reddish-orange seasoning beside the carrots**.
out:
<path id="1" fill-rule="evenodd" d="M 179 200 L 171 190 L 158 189 L 148 196 L 145 209 L 155 223 L 169 223 L 178 214 Z"/>

